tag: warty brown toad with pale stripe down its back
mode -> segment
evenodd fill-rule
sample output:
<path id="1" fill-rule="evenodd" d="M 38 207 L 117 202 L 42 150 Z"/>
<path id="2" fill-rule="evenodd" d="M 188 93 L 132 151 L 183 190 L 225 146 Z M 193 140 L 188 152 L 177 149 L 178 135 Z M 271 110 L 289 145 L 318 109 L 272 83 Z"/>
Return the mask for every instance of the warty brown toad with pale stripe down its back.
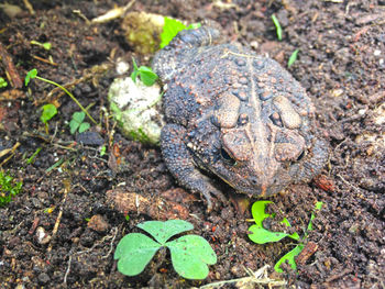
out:
<path id="1" fill-rule="evenodd" d="M 223 198 L 200 169 L 235 190 L 261 197 L 309 181 L 328 158 L 315 136 L 315 108 L 305 89 L 275 60 L 231 44 L 219 32 L 180 32 L 153 69 L 167 86 L 161 148 L 186 188 Z"/>

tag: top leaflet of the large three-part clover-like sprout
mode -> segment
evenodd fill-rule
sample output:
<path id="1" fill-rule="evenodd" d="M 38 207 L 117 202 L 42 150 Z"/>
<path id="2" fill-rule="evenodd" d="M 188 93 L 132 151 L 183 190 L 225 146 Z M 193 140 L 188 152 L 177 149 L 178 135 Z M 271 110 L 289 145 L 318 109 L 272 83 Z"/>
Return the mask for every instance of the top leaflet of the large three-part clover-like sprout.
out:
<path id="1" fill-rule="evenodd" d="M 184 220 L 147 221 L 138 224 L 138 226 L 152 235 L 162 245 L 172 236 L 194 229 L 191 223 Z"/>

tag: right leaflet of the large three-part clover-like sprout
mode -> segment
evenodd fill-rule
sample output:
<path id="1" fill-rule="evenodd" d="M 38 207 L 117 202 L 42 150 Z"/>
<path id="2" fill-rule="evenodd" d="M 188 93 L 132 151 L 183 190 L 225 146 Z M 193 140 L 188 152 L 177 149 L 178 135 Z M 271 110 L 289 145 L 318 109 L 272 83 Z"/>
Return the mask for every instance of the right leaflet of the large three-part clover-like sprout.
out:
<path id="1" fill-rule="evenodd" d="M 201 280 L 209 274 L 207 265 L 217 263 L 217 255 L 201 236 L 186 235 L 167 242 L 172 262 L 177 274 L 186 279 Z"/>

